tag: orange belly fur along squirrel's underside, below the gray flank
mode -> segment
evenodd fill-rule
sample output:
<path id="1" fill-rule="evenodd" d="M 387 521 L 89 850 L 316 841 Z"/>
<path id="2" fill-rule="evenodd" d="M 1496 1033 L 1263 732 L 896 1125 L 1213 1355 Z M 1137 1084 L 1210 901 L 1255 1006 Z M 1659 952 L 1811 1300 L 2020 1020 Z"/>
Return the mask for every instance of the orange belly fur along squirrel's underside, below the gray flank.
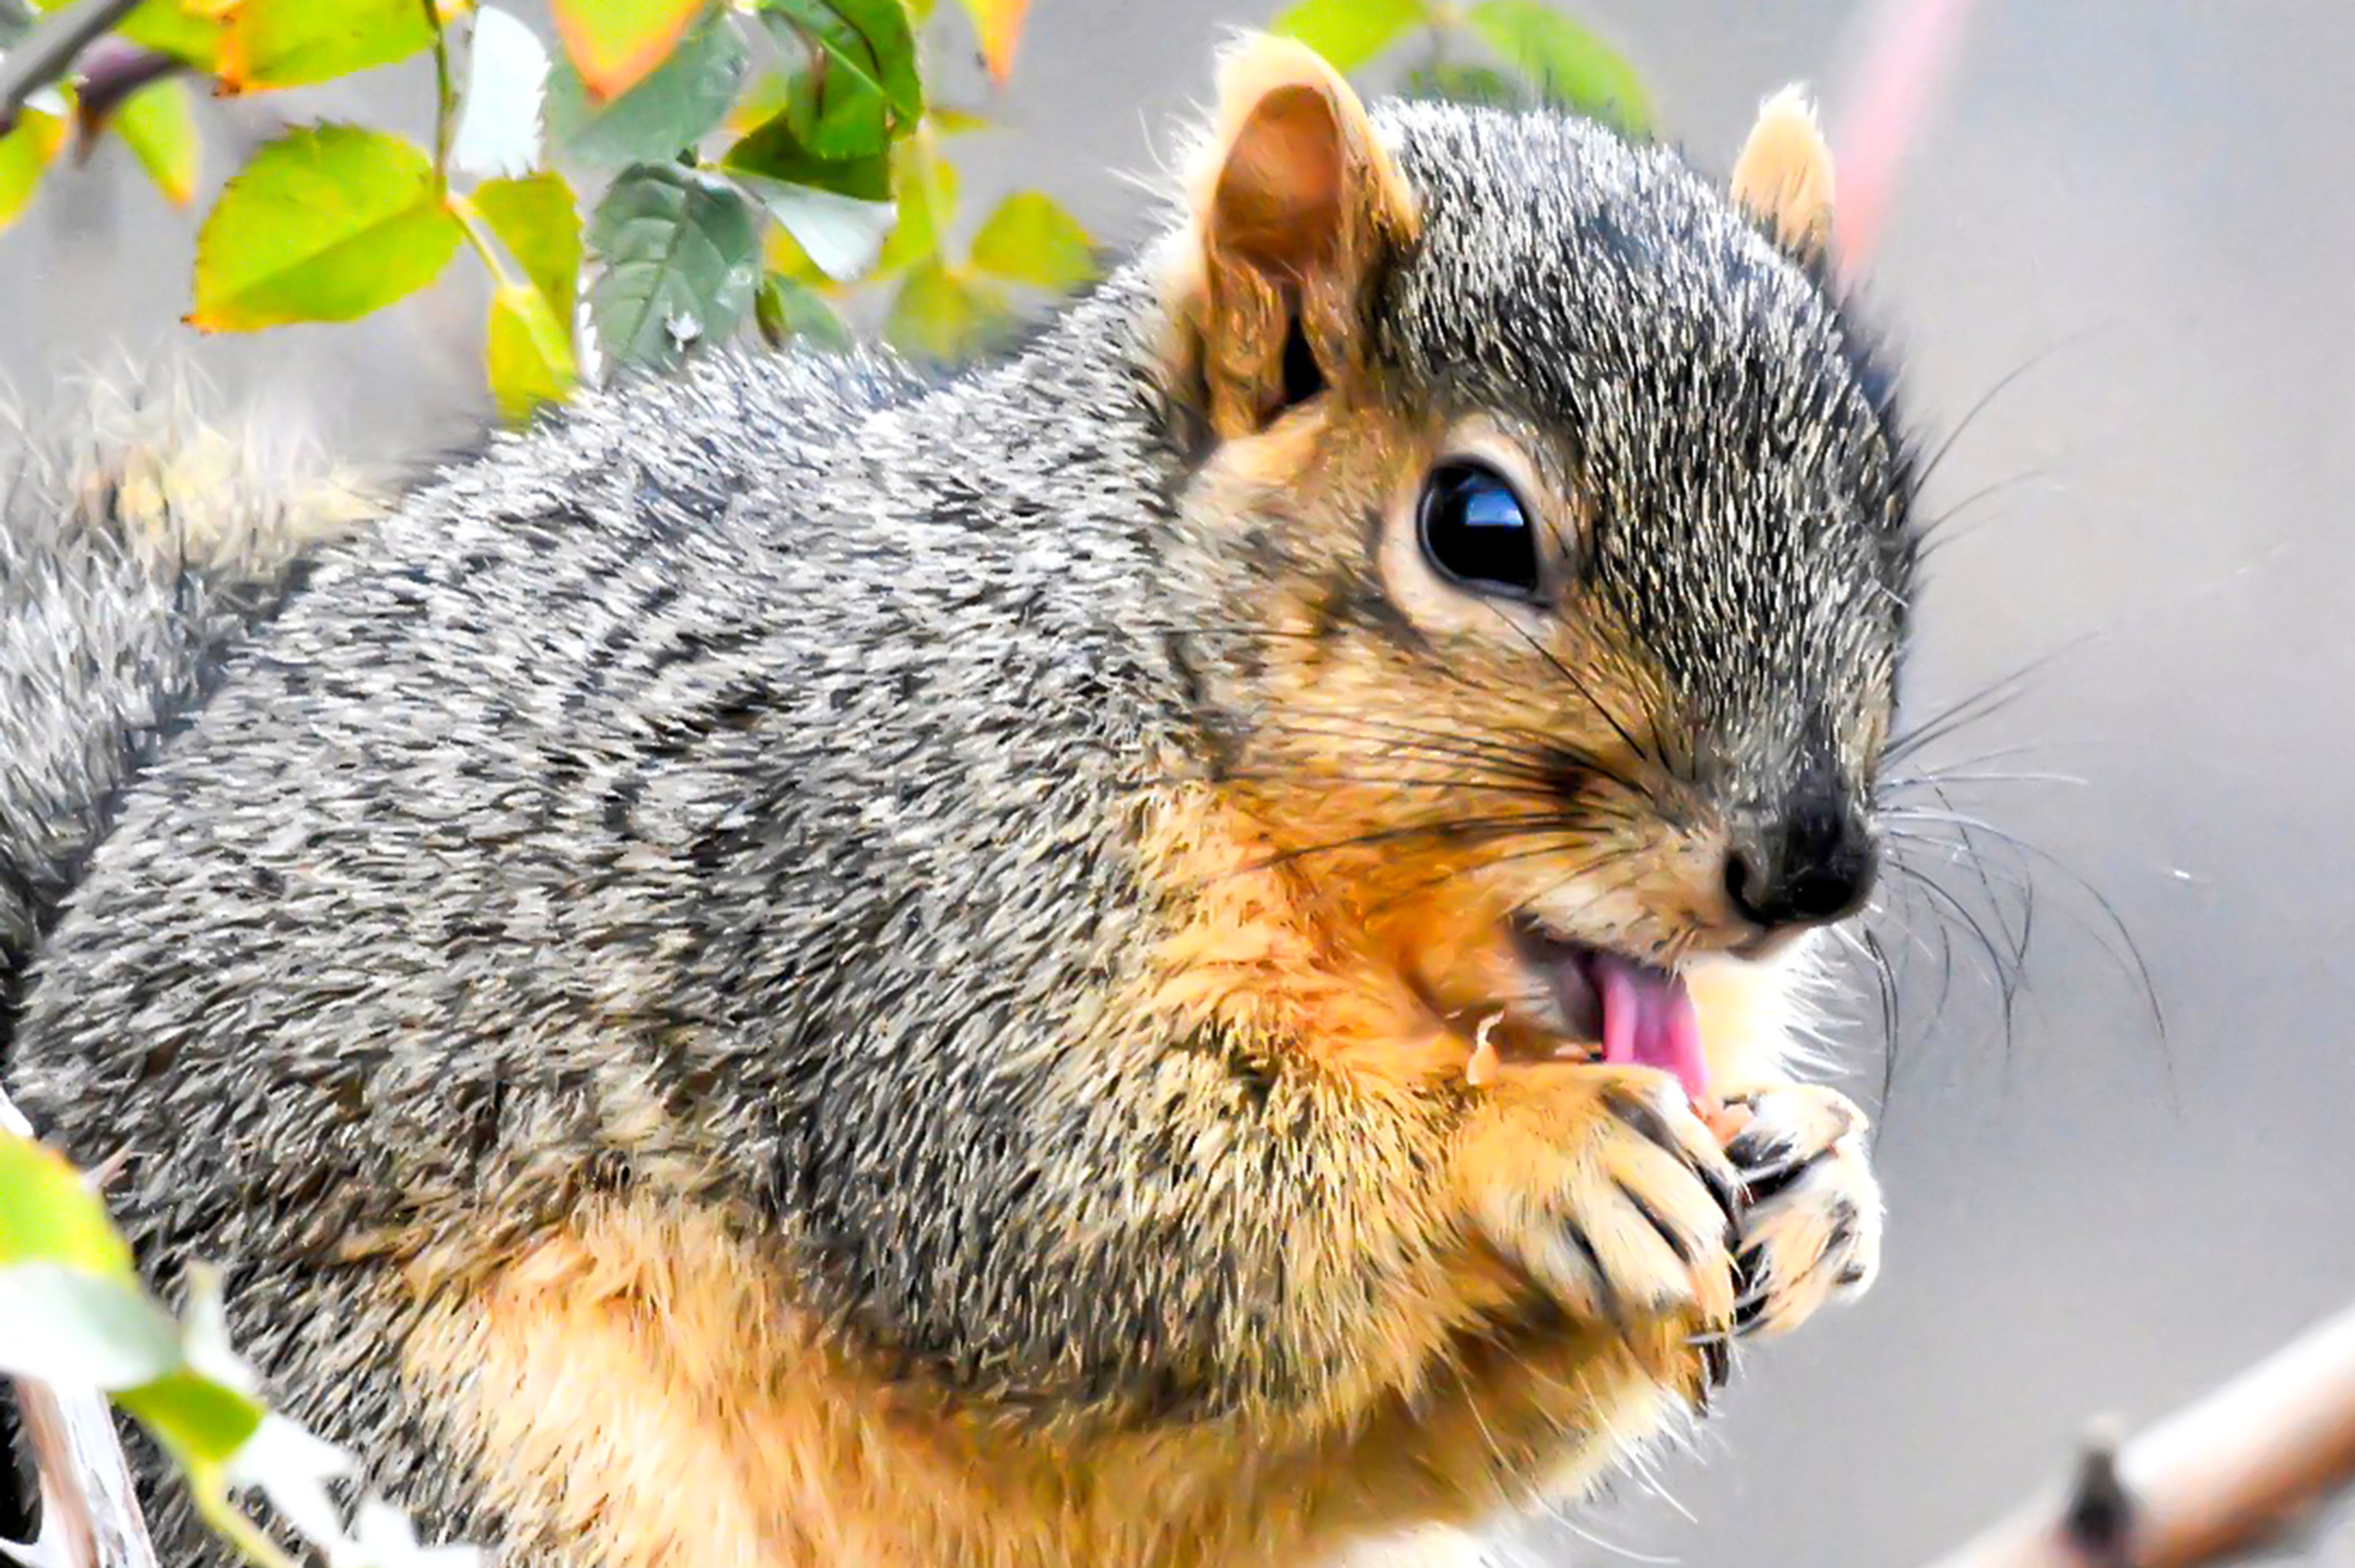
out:
<path id="1" fill-rule="evenodd" d="M 1658 1326 L 1434 1344 L 1422 1387 L 1272 1446 L 1229 1424 L 1067 1446 L 860 1368 L 702 1208 L 584 1212 L 450 1293 L 407 1375 L 523 1561 L 629 1568 L 1279 1568 L 1470 1523 L 1658 1427 Z M 1564 1453 L 1559 1431 L 1594 1441 Z"/>

